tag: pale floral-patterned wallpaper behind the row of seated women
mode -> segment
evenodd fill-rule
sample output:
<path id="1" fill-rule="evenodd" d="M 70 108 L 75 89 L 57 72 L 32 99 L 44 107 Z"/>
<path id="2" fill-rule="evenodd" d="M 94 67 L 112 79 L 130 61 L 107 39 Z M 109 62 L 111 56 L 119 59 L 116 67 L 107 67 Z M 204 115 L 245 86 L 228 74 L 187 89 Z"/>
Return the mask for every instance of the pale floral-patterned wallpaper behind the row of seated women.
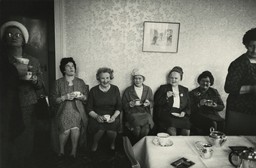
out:
<path id="1" fill-rule="evenodd" d="M 255 27 L 256 16 L 255 0 L 66 0 L 63 6 L 64 50 L 90 88 L 105 66 L 114 70 L 111 83 L 122 95 L 133 68 L 144 68 L 145 85 L 155 92 L 178 65 L 181 85 L 190 90 L 198 87 L 199 74 L 211 71 L 224 103 L 227 68 L 246 51 L 242 36 Z M 142 52 L 144 21 L 180 23 L 178 52 Z"/>

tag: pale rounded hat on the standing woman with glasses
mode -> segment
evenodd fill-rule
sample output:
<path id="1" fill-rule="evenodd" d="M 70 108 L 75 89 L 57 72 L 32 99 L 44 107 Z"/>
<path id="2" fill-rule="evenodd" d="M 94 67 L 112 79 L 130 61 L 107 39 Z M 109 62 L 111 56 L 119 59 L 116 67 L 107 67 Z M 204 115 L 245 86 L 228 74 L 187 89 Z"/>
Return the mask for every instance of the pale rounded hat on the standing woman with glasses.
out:
<path id="1" fill-rule="evenodd" d="M 7 22 L 7 23 L 5 23 L 1 26 L 1 39 L 4 36 L 4 33 L 5 33 L 6 29 L 9 26 L 16 26 L 17 28 L 20 28 L 20 31 L 22 32 L 23 37 L 25 39 L 25 43 L 28 43 L 28 41 L 29 41 L 29 31 L 26 29 L 25 26 L 23 26 L 23 24 L 18 23 L 16 21 L 10 21 L 10 22 Z"/>

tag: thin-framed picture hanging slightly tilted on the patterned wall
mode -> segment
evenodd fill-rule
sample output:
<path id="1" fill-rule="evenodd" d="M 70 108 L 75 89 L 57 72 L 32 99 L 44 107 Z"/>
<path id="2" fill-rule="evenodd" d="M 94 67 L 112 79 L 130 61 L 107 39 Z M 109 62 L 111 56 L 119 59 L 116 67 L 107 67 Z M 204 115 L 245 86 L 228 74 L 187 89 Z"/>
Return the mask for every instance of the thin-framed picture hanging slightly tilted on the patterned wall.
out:
<path id="1" fill-rule="evenodd" d="M 143 52 L 178 52 L 180 23 L 144 22 Z"/>

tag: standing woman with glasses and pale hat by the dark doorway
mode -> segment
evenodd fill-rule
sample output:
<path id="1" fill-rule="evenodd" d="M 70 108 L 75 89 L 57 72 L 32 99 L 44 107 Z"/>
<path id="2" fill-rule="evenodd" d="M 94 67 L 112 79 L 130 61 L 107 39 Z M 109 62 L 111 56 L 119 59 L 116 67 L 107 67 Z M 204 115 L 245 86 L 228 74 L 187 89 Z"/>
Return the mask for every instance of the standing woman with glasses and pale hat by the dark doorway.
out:
<path id="1" fill-rule="evenodd" d="M 14 163 L 22 167 L 25 166 L 24 162 L 29 160 L 32 154 L 35 129 L 35 104 L 37 104 L 35 91 L 42 88 L 42 73 L 38 59 L 23 52 L 29 40 L 29 32 L 23 24 L 10 21 L 2 25 L 1 39 L 5 45 L 5 52 L 1 54 L 2 57 L 8 58 L 11 64 L 16 64 L 18 58 L 27 58 L 29 59 L 29 66 L 32 67 L 29 70 L 32 72 L 32 77 L 30 79 L 22 78 L 19 81 L 20 106 L 26 129 L 15 141 L 20 162 L 17 161 Z"/>

